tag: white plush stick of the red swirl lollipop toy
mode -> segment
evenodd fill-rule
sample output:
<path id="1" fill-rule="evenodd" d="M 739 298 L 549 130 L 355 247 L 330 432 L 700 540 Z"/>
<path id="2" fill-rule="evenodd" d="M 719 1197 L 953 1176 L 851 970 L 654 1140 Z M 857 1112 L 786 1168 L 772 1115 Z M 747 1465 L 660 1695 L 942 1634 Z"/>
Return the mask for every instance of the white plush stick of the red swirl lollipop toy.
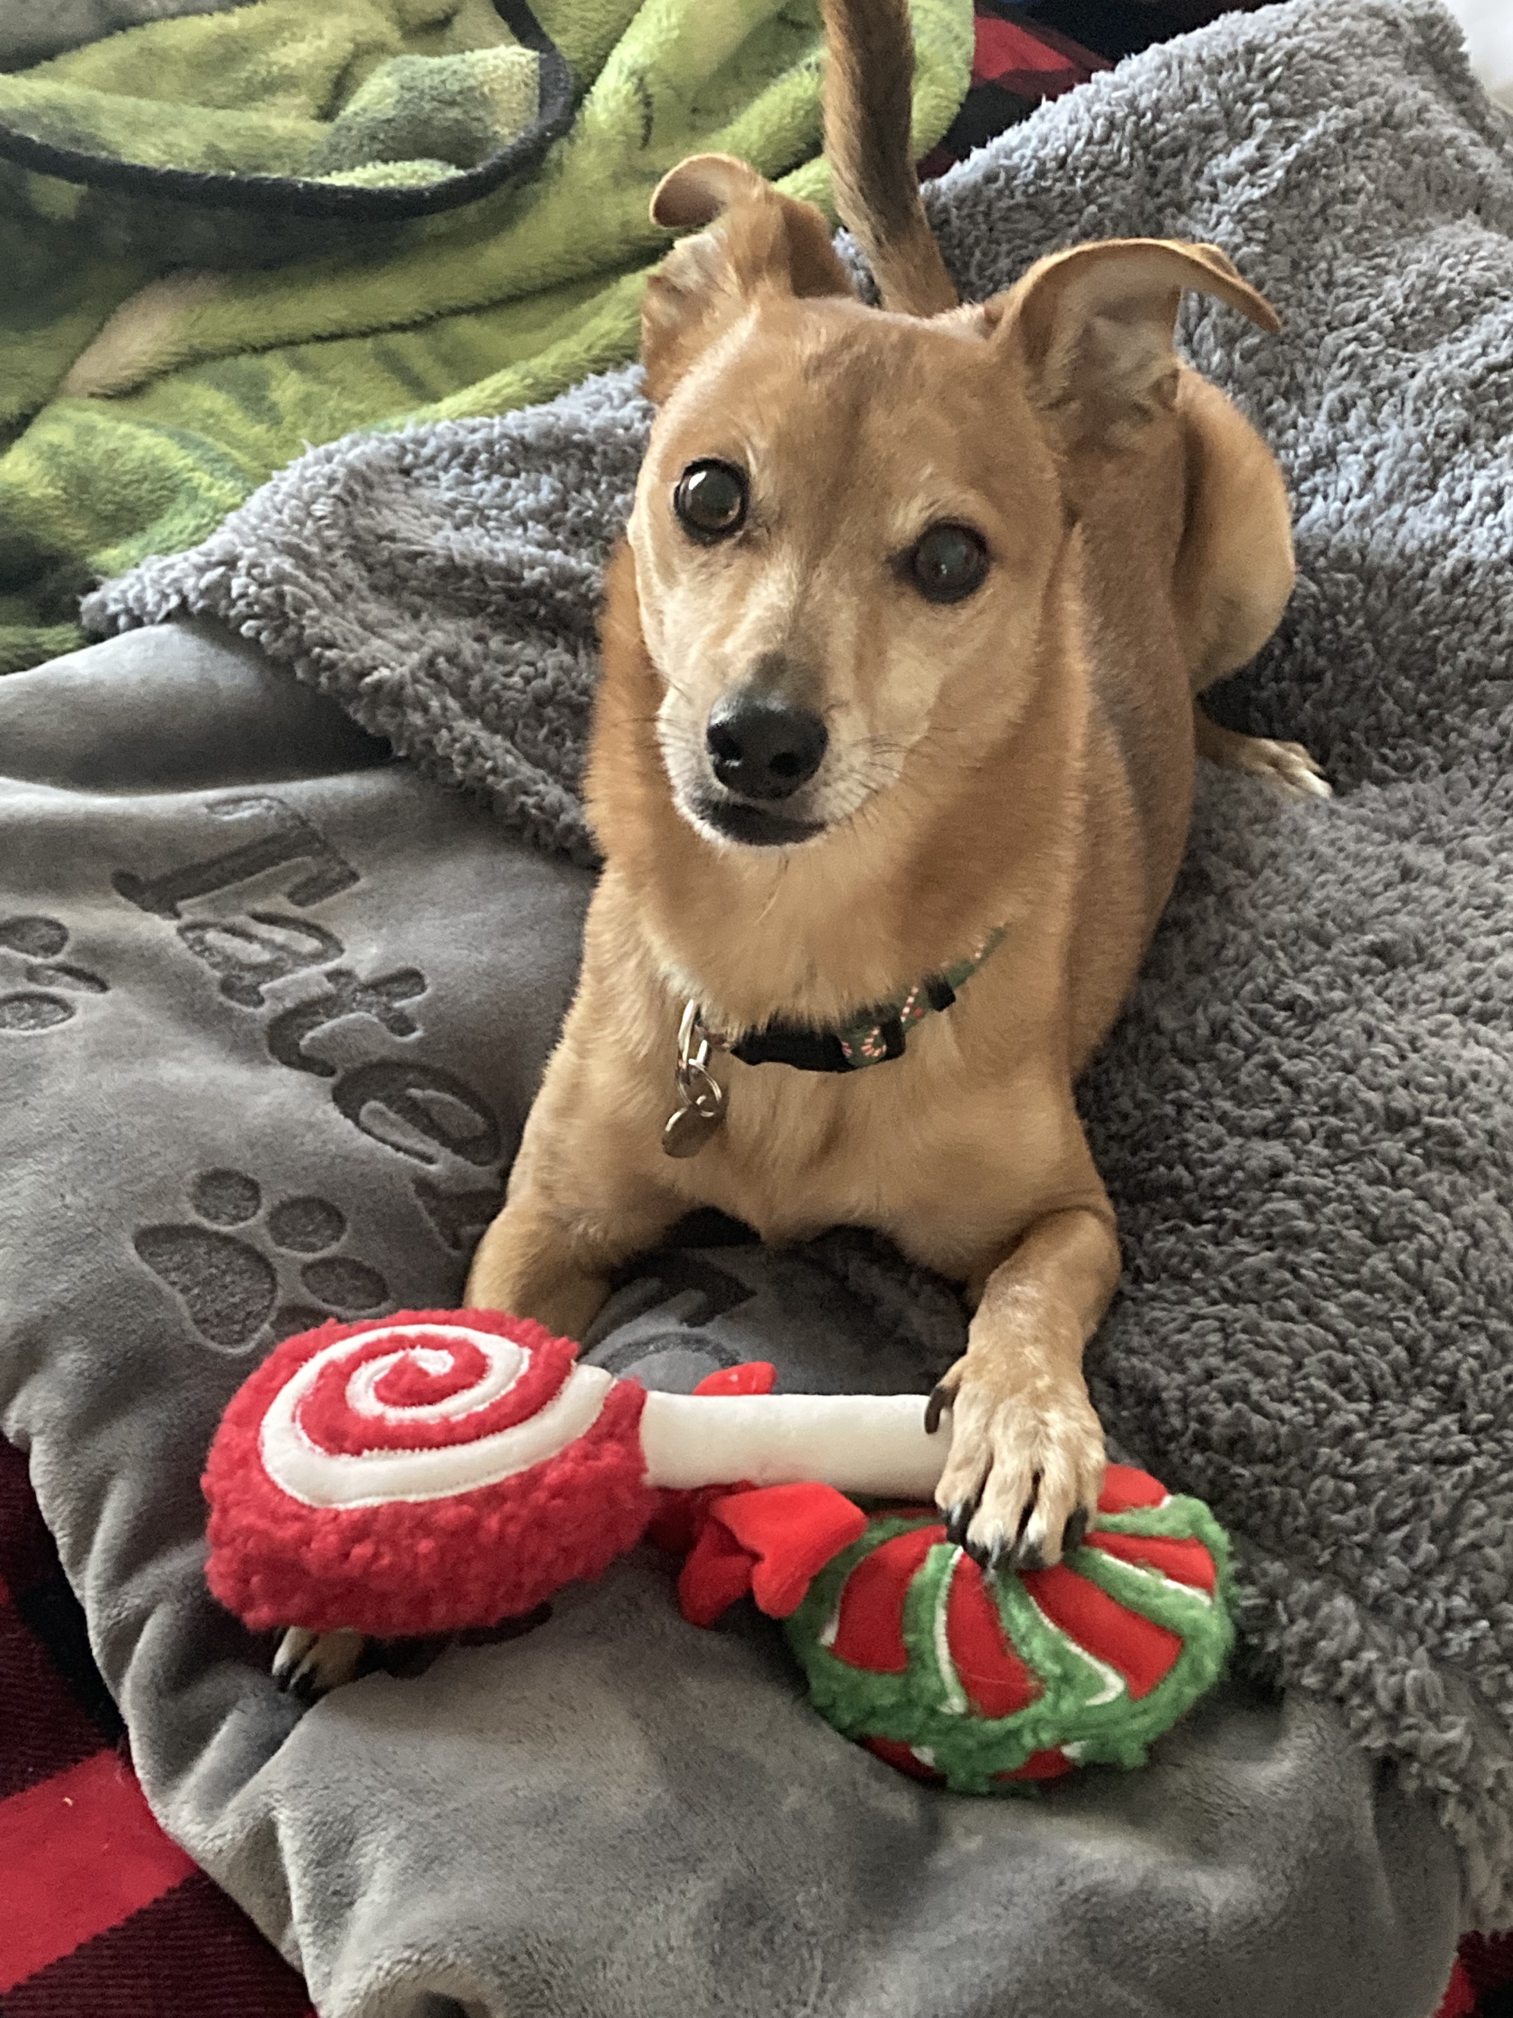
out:
<path id="1" fill-rule="evenodd" d="M 924 1433 L 922 1394 L 652 1392 L 642 1413 L 648 1485 L 817 1479 L 843 1493 L 930 1499 L 948 1449 L 948 1421 Z"/>

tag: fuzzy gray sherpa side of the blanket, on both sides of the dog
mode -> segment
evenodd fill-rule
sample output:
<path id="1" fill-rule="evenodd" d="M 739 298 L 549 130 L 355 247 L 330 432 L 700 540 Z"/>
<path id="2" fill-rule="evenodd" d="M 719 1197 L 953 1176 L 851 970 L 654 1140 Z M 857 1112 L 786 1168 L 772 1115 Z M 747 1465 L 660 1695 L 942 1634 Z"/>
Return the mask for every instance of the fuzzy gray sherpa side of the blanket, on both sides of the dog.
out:
<path id="1" fill-rule="evenodd" d="M 944 178 L 964 293 L 1057 244 L 1214 240 L 1279 307 L 1188 307 L 1259 420 L 1299 589 L 1225 696 L 1342 791 L 1204 779 L 1085 1086 L 1128 1279 L 1114 1437 L 1237 1532 L 1269 1671 L 1432 1794 L 1513 1921 L 1513 147 L 1434 0 L 1297 0 L 1099 77 Z M 99 630 L 216 615 L 587 860 L 599 569 L 646 408 L 319 450 Z"/>

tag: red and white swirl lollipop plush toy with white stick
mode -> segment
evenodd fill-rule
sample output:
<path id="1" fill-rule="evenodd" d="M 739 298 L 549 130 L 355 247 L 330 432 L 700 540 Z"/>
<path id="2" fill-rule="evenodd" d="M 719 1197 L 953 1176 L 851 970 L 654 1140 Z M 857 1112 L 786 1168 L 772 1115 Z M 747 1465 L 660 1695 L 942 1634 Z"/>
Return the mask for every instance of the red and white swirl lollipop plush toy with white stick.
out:
<path id="1" fill-rule="evenodd" d="M 458 1633 L 597 1576 L 668 1489 L 928 1499 L 946 1443 L 918 1394 L 648 1394 L 496 1310 L 323 1324 L 216 1431 L 206 1574 L 258 1631 Z"/>

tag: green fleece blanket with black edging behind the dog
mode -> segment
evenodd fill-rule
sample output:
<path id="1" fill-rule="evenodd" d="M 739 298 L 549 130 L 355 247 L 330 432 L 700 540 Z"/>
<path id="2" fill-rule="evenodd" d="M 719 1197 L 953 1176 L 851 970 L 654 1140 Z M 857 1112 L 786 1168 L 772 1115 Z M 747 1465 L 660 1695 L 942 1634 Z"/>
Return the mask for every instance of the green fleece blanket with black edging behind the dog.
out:
<path id="1" fill-rule="evenodd" d="M 972 6 L 912 10 L 924 153 L 966 93 Z M 192 547 L 317 442 L 506 412 L 631 355 L 666 248 L 648 198 L 682 155 L 829 206 L 815 0 L 541 0 L 537 48 L 520 14 L 248 0 L 0 75 L 0 670 L 73 650 L 87 587 Z M 454 204 L 539 129 L 553 44 L 571 127 Z M 65 157 L 105 165 L 40 172 Z M 373 212 L 395 196 L 434 214 Z"/>

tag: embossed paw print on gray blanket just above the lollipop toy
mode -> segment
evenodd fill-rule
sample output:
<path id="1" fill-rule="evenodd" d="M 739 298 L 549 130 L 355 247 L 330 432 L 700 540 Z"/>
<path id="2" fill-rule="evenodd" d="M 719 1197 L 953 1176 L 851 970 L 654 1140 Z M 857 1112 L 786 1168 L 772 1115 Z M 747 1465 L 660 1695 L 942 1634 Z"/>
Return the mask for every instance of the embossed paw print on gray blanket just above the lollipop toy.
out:
<path id="1" fill-rule="evenodd" d="M 264 1211 L 254 1176 L 204 1170 L 190 1205 L 194 1225 L 141 1227 L 131 1245 L 182 1298 L 190 1324 L 214 1352 L 246 1352 L 264 1326 L 274 1340 L 288 1338 L 327 1318 L 367 1316 L 391 1300 L 375 1267 L 331 1253 L 347 1219 L 329 1199 L 278 1199 Z M 309 1304 L 284 1296 L 295 1269 Z"/>

